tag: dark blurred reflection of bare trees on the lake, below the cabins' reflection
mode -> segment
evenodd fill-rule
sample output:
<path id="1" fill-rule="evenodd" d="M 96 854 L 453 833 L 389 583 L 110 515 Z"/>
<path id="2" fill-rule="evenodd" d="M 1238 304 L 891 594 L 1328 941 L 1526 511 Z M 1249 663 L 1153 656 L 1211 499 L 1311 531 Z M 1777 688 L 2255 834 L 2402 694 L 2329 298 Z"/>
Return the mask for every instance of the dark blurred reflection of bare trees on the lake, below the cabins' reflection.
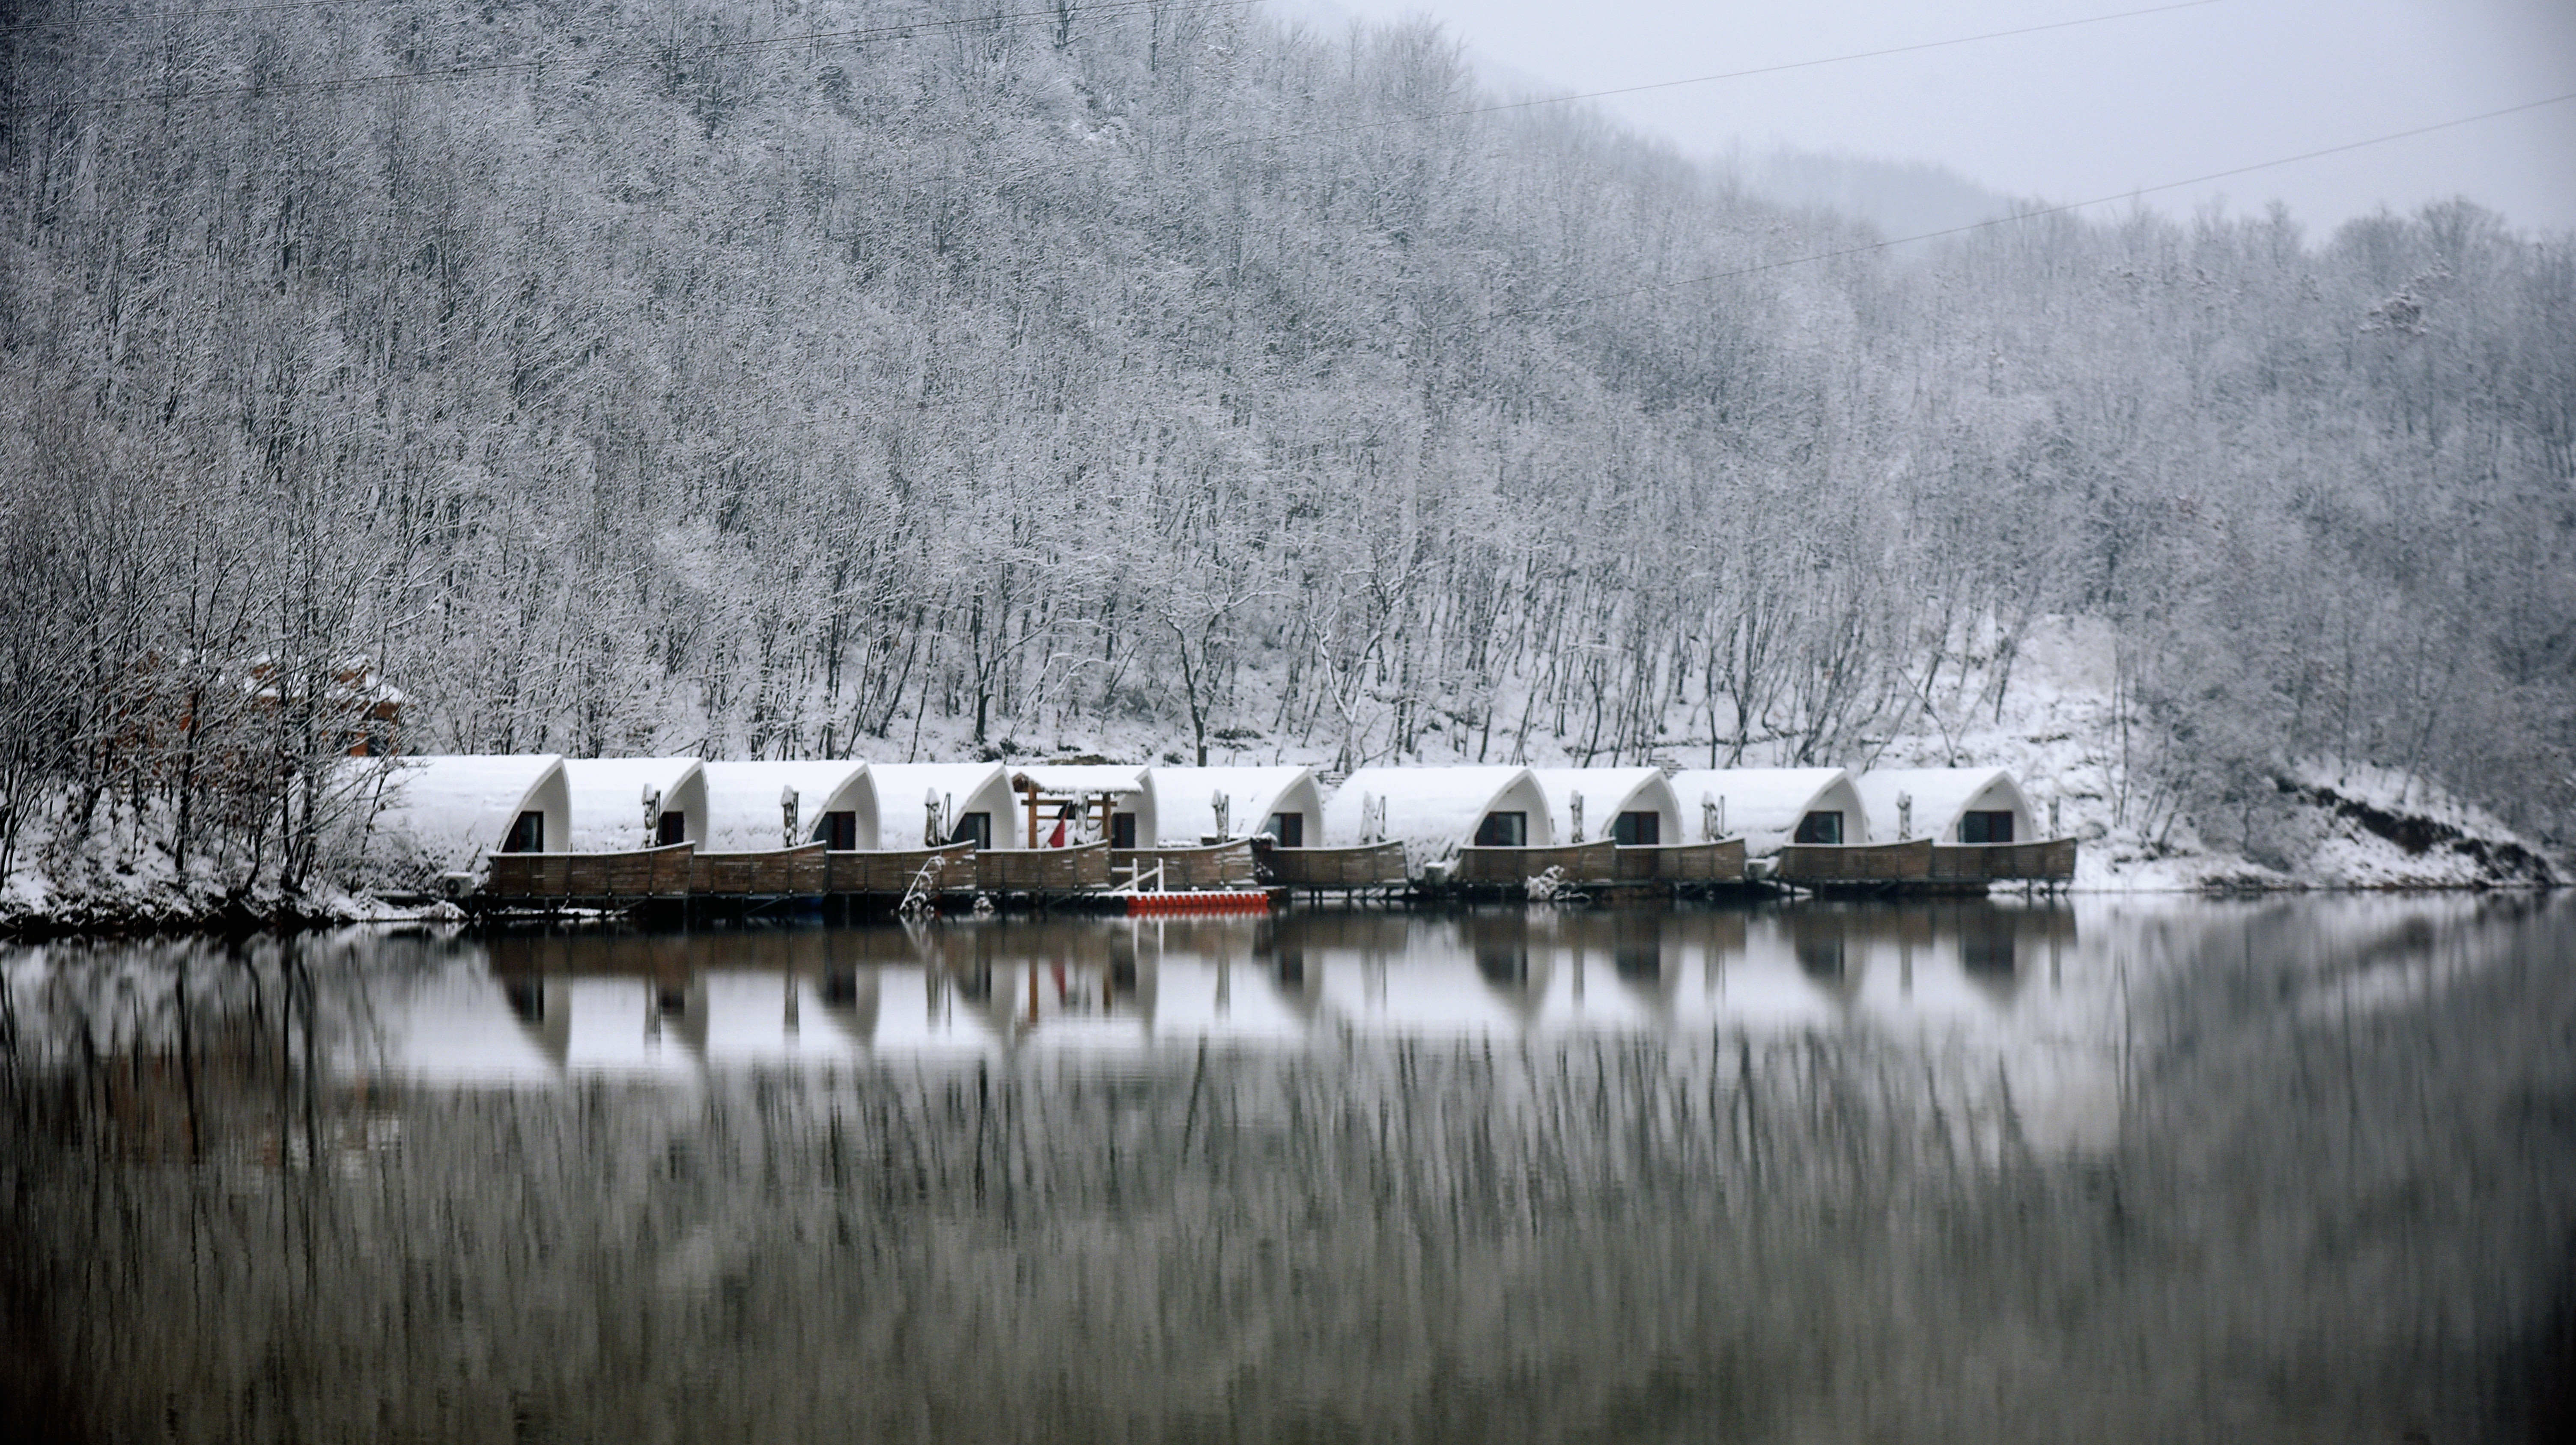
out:
<path id="1" fill-rule="evenodd" d="M 402 979 L 198 958 L 188 1051 L 116 1023 L 147 989 L 15 1010 L 103 1048 L 13 1051 L 0 1267 L 121 1437 L 2499 1435 L 2576 1223 L 2576 930 L 2347 1015 L 2298 917 L 2177 938 L 2071 1162 L 1834 1035 L 404 1100 L 291 1023 Z"/>

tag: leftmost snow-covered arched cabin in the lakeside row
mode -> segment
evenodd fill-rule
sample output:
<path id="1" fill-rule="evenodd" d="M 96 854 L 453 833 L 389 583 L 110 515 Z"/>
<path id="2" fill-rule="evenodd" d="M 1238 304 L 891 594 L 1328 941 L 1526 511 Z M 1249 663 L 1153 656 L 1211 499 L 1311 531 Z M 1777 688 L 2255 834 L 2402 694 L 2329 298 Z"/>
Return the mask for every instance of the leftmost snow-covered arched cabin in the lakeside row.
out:
<path id="1" fill-rule="evenodd" d="M 495 853 L 544 853 L 572 837 L 564 760 L 538 755 L 412 755 L 353 762 L 371 806 L 366 858 L 417 881 L 471 873 Z"/>

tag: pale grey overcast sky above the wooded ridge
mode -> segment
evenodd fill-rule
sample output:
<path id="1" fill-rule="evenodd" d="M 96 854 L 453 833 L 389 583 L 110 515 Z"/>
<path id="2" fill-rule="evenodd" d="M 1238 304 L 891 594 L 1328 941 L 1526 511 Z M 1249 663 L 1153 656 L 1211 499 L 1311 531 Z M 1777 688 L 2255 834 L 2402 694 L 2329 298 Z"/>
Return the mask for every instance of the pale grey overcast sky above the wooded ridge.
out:
<path id="1" fill-rule="evenodd" d="M 1788 64 L 2169 0 L 1275 0 L 1437 18 L 1497 75 L 1556 90 Z M 1731 144 L 1927 160 L 2009 196 L 2084 201 L 2576 90 L 2576 0 L 2202 5 L 1597 100 L 1695 155 Z M 2272 198 L 2331 229 L 2468 196 L 2576 229 L 2576 100 L 2146 196 Z"/>

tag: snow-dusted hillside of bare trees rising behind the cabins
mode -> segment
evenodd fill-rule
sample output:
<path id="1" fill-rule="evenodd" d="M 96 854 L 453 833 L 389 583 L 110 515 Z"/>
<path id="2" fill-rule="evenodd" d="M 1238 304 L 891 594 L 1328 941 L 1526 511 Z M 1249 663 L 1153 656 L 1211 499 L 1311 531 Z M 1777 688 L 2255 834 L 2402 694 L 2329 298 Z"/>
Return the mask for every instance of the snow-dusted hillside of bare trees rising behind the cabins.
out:
<path id="1" fill-rule="evenodd" d="M 1801 263 L 1873 232 L 1188 0 L 52 0 L 0 67 L 0 873 L 296 883 L 384 688 L 412 750 L 1860 765 L 2050 616 L 2141 806 L 2576 819 L 2576 242 L 2470 203 Z"/>

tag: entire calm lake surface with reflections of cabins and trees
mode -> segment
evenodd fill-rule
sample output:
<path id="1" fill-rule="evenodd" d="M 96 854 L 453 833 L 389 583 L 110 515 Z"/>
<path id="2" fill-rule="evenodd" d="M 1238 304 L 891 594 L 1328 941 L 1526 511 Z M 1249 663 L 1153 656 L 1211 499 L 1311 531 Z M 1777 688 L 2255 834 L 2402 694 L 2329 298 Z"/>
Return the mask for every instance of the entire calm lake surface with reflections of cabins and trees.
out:
<path id="1" fill-rule="evenodd" d="M 2576 904 L 0 953 L 62 1440 L 2543 1440 Z"/>

